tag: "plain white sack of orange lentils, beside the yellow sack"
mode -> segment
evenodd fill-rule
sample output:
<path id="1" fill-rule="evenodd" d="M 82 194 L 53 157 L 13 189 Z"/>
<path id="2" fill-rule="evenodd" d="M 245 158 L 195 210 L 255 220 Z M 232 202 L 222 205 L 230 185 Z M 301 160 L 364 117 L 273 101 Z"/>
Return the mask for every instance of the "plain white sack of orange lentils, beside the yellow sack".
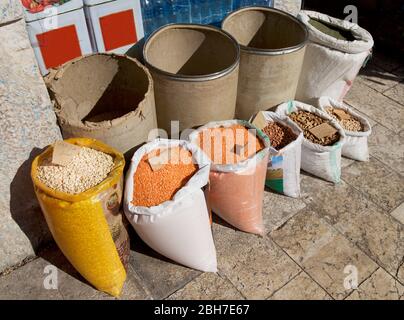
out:
<path id="1" fill-rule="evenodd" d="M 199 170 L 172 200 L 154 207 L 133 205 L 133 176 L 142 157 L 155 149 L 176 146 L 192 153 Z M 209 159 L 195 145 L 183 140 L 156 139 L 133 155 L 126 175 L 124 210 L 137 234 L 152 249 L 184 266 L 216 272 L 216 249 L 201 190 L 208 183 L 209 171 Z"/>

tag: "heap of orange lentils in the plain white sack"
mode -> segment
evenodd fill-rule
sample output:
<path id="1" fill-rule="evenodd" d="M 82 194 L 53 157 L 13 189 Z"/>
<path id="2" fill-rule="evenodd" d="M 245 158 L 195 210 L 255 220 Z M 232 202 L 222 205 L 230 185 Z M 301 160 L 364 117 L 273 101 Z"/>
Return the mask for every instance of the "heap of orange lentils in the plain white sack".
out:
<path id="1" fill-rule="evenodd" d="M 153 170 L 149 159 L 167 152 L 167 161 Z M 140 161 L 134 179 L 133 201 L 135 206 L 152 207 L 172 200 L 198 170 L 192 162 L 192 154 L 180 147 L 168 150 L 156 149 L 145 154 Z"/>

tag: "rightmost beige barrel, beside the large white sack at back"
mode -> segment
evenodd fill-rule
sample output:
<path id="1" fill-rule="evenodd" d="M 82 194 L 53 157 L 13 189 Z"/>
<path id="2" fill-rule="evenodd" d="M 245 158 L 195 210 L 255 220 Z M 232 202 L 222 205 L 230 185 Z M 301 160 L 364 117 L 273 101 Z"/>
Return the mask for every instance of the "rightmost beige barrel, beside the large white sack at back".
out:
<path id="1" fill-rule="evenodd" d="M 222 28 L 241 48 L 237 119 L 295 98 L 308 38 L 303 23 L 277 9 L 246 7 L 230 13 Z"/>

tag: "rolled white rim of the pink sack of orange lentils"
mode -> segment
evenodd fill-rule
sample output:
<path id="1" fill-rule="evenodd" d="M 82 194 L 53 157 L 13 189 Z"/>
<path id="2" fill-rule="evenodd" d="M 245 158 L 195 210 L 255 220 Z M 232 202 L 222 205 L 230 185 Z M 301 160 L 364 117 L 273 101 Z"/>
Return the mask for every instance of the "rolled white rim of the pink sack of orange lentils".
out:
<path id="1" fill-rule="evenodd" d="M 198 138 L 199 133 L 202 132 L 203 130 L 211 129 L 211 128 L 219 128 L 219 127 L 228 128 L 228 127 L 231 127 L 236 124 L 240 124 L 240 125 L 246 127 L 247 129 L 256 130 L 257 137 L 264 144 L 264 149 L 255 153 L 254 155 L 251 155 L 248 159 L 246 159 L 244 161 L 240 161 L 238 163 L 234 163 L 234 164 L 214 164 L 208 157 L 208 160 L 211 163 L 212 171 L 238 172 L 238 171 L 245 171 L 245 170 L 251 169 L 252 167 L 255 167 L 256 162 L 263 159 L 265 157 L 265 155 L 267 154 L 267 152 L 269 151 L 270 142 L 269 142 L 269 138 L 267 137 L 267 135 L 265 133 L 263 133 L 260 129 L 258 129 L 251 123 L 249 123 L 248 121 L 244 121 L 244 120 L 225 120 L 225 121 L 209 122 L 206 125 L 199 127 L 194 132 L 192 132 L 189 135 L 188 139 L 192 143 L 195 143 L 195 141 Z M 203 151 L 201 151 L 201 152 L 204 153 Z"/>

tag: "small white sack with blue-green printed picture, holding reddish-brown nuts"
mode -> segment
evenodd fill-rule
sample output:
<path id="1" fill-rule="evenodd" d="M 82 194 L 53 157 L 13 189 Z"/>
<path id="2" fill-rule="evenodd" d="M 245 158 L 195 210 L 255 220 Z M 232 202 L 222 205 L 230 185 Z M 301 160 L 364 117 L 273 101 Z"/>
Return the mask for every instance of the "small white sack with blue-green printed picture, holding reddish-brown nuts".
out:
<path id="1" fill-rule="evenodd" d="M 289 117 L 274 112 L 262 112 L 267 122 L 278 122 L 289 127 L 297 138 L 286 147 L 269 148 L 269 161 L 265 184 L 268 188 L 292 198 L 300 197 L 300 163 L 303 131 Z"/>

